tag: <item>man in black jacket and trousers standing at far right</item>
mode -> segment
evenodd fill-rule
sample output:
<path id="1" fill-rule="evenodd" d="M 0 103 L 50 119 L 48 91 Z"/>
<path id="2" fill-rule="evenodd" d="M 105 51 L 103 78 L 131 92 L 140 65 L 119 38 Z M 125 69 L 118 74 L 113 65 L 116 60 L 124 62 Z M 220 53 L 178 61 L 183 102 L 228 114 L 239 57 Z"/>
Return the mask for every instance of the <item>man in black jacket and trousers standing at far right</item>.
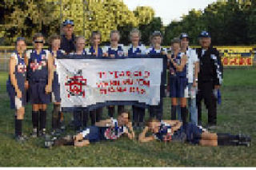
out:
<path id="1" fill-rule="evenodd" d="M 222 85 L 222 63 L 218 50 L 211 45 L 210 34 L 202 31 L 199 35 L 201 48 L 197 49 L 199 58 L 198 73 L 198 125 L 202 125 L 202 105 L 204 99 L 208 109 L 208 128 L 215 128 L 217 124 L 217 100 L 214 90 Z"/>

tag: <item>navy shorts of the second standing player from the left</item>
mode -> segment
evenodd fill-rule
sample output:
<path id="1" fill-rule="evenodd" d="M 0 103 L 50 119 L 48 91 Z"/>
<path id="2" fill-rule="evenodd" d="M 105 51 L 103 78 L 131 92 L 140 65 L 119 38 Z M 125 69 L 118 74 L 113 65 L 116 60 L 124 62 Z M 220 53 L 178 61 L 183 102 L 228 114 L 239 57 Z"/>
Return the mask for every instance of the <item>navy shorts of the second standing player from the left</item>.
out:
<path id="1" fill-rule="evenodd" d="M 46 94 L 47 81 L 30 81 L 29 97 L 31 104 L 49 104 L 50 94 Z"/>

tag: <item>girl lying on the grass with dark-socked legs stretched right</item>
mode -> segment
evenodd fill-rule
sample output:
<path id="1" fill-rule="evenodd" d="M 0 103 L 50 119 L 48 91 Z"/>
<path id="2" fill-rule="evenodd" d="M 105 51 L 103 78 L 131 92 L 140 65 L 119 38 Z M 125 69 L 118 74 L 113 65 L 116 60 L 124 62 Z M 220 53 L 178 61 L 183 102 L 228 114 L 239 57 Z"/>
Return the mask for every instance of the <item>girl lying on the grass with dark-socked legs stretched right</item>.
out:
<path id="1" fill-rule="evenodd" d="M 151 136 L 146 136 L 147 132 L 152 132 Z M 246 145 L 250 146 L 250 136 L 230 135 L 229 133 L 211 133 L 198 126 L 188 123 L 182 125 L 180 121 L 158 121 L 150 119 L 148 125 L 138 136 L 140 142 L 152 140 L 171 141 L 178 140 L 190 144 L 200 144 L 203 146 L 218 145 Z"/>

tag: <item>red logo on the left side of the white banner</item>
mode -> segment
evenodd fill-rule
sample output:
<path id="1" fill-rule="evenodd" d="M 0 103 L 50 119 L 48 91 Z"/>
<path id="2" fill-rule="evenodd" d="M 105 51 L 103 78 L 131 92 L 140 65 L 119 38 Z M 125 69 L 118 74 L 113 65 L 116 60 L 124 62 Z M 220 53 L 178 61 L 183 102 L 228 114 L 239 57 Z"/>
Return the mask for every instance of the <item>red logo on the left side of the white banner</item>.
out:
<path id="1" fill-rule="evenodd" d="M 82 73 L 78 73 L 77 75 L 74 75 L 74 77 L 67 77 L 65 83 L 65 86 L 67 86 L 66 91 L 68 92 L 67 97 L 70 98 L 70 95 L 86 97 L 86 81 L 87 80 L 82 77 Z"/>

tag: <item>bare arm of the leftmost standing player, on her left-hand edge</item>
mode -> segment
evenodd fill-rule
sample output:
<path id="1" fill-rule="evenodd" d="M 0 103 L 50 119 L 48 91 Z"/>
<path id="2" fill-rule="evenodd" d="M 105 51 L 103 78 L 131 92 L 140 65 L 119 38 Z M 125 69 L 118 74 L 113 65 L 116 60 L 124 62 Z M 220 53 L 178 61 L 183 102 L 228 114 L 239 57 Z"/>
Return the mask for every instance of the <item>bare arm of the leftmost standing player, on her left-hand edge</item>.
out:
<path id="1" fill-rule="evenodd" d="M 17 79 L 15 77 L 15 65 L 16 65 L 16 58 L 15 57 L 10 57 L 10 82 L 14 86 L 15 92 L 17 93 L 17 97 L 21 98 L 22 97 L 22 92 L 20 89 L 18 89 L 18 83 Z"/>

